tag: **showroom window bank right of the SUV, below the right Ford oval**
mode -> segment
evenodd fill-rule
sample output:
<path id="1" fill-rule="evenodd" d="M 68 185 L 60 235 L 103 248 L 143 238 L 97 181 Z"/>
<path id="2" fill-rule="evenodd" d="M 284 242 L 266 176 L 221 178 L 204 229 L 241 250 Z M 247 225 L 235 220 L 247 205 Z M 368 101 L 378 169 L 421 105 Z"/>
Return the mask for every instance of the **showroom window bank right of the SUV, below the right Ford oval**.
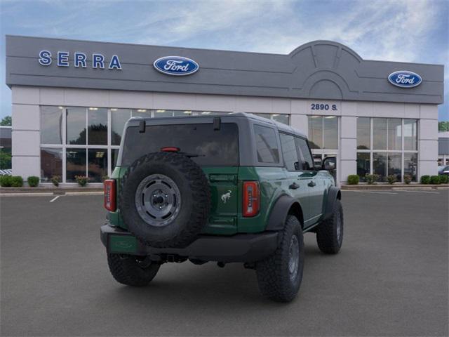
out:
<path id="1" fill-rule="evenodd" d="M 417 180 L 417 119 L 357 118 L 357 174 Z"/>

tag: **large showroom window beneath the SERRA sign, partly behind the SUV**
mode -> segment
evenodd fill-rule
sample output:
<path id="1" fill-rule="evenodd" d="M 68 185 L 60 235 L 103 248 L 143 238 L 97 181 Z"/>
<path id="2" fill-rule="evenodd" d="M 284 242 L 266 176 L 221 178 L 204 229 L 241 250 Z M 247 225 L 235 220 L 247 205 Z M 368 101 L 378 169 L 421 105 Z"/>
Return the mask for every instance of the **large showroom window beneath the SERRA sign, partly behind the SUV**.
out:
<path id="1" fill-rule="evenodd" d="M 116 166 L 123 128 L 130 117 L 176 117 L 229 112 L 41 106 L 41 181 L 59 176 L 101 183 Z M 274 119 L 270 116 L 270 118 Z"/>

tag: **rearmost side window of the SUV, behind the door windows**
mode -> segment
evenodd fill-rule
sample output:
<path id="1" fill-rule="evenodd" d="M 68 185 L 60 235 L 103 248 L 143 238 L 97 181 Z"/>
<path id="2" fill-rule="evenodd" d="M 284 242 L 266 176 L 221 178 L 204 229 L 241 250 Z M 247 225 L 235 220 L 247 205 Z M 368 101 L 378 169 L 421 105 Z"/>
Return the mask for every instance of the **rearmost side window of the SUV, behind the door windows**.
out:
<path id="1" fill-rule="evenodd" d="M 257 161 L 260 163 L 279 163 L 279 150 L 276 142 L 276 133 L 267 126 L 254 126 Z"/>

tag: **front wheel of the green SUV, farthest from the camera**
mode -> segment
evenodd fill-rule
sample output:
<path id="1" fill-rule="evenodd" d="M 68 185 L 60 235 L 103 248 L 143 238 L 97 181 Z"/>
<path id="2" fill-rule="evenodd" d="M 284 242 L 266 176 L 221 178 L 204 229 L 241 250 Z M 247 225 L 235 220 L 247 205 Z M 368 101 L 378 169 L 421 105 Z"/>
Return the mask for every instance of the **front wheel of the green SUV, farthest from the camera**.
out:
<path id="1" fill-rule="evenodd" d="M 339 199 L 334 202 L 330 218 L 316 227 L 316 242 L 323 253 L 336 254 L 340 251 L 343 243 L 343 207 Z"/>

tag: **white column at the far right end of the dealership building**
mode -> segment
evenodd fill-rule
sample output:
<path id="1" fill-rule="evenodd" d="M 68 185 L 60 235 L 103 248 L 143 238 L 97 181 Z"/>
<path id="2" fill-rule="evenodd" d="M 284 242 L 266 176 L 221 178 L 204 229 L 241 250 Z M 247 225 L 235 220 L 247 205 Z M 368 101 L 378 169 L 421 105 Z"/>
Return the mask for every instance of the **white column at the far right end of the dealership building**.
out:
<path id="1" fill-rule="evenodd" d="M 438 174 L 438 106 L 420 105 L 418 126 L 418 181 Z"/>

